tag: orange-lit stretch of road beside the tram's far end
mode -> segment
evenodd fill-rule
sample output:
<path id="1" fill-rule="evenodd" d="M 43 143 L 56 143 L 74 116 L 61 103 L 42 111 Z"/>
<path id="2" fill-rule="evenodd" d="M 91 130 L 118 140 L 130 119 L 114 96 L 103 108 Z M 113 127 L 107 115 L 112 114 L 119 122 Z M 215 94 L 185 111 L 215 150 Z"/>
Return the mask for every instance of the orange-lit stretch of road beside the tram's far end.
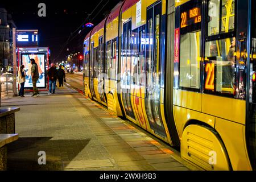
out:
<path id="1" fill-rule="evenodd" d="M 84 83 L 82 81 L 82 73 L 66 73 L 66 84 L 72 88 L 77 89 L 79 92 L 84 93 Z"/>

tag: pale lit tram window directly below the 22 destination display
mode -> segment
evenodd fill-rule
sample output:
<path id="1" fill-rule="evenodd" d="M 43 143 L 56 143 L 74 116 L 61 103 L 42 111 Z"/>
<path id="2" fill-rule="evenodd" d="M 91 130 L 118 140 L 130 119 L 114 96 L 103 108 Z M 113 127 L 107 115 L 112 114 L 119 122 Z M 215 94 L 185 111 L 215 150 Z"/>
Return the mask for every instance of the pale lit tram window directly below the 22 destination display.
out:
<path id="1" fill-rule="evenodd" d="M 200 89 L 201 31 L 189 32 L 180 38 L 180 86 Z"/>

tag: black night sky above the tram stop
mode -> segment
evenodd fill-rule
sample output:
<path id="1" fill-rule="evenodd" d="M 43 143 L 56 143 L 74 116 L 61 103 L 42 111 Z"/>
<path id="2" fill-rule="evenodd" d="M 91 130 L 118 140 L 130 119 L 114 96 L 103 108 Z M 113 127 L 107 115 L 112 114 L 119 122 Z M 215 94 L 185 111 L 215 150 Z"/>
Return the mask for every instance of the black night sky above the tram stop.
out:
<path id="1" fill-rule="evenodd" d="M 1 1 L 0 7 L 4 7 L 13 16 L 18 29 L 39 30 L 39 47 L 49 47 L 50 59 L 56 63 L 65 60 L 69 53 L 82 52 L 85 35 L 92 29 L 82 28 L 82 23 L 92 22 L 95 26 L 119 1 L 121 0 Z M 38 16 L 38 4 L 41 2 L 46 4 L 46 17 Z M 79 30 L 82 30 L 80 34 Z M 68 39 L 71 41 L 64 47 Z"/>

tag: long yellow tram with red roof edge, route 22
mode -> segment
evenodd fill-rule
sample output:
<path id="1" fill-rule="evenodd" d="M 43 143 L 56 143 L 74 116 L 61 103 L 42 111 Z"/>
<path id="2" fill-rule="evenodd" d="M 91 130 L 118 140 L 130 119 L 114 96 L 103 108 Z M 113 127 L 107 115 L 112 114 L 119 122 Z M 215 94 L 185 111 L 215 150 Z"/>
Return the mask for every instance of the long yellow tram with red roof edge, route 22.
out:
<path id="1" fill-rule="evenodd" d="M 255 169 L 255 1 L 126 0 L 84 40 L 86 97 L 206 170 Z"/>

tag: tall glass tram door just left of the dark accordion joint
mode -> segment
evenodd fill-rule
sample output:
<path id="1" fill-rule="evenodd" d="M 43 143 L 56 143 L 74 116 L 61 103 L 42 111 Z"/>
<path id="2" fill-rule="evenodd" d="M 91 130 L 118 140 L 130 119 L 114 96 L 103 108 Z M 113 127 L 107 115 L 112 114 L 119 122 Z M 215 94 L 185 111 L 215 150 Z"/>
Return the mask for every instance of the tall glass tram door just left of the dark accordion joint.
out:
<path id="1" fill-rule="evenodd" d="M 160 137 L 166 137 L 160 117 L 160 40 L 162 3 L 147 9 L 146 25 L 146 113 L 151 130 Z"/>

